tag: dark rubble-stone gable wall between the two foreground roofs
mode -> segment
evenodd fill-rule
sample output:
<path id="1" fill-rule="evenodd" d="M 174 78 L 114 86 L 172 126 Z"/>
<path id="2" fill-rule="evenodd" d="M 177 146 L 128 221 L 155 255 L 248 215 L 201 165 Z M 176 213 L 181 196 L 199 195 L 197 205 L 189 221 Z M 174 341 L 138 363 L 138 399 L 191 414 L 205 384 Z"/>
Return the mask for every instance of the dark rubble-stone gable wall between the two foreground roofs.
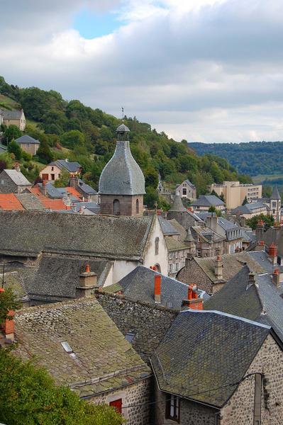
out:
<path id="1" fill-rule="evenodd" d="M 133 348 L 145 362 L 149 363 L 150 354 L 171 327 L 178 314 L 177 310 L 128 300 L 123 295 L 96 291 L 95 296 L 123 335 L 127 332 L 135 334 Z"/>

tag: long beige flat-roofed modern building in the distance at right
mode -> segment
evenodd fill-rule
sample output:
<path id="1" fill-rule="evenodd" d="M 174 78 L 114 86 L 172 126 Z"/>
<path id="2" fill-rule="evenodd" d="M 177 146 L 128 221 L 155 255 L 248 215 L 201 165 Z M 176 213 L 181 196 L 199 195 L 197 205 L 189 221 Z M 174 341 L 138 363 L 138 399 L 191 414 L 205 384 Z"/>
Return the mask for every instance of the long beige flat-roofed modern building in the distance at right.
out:
<path id="1" fill-rule="evenodd" d="M 227 210 L 233 210 L 243 204 L 245 197 L 248 202 L 255 202 L 262 197 L 262 186 L 255 184 L 240 184 L 239 181 L 224 181 L 222 184 L 213 183 L 209 189 L 218 196 L 223 193 Z"/>

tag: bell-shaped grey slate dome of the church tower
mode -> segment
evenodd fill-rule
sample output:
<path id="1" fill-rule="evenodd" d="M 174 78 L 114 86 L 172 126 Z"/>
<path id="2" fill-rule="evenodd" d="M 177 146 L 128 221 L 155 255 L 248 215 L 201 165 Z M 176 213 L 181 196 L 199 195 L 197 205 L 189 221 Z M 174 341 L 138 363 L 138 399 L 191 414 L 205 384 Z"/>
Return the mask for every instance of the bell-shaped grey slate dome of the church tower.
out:
<path id="1" fill-rule="evenodd" d="M 131 154 L 128 140 L 118 140 L 113 157 L 104 166 L 99 193 L 107 195 L 143 195 L 145 177 Z"/>

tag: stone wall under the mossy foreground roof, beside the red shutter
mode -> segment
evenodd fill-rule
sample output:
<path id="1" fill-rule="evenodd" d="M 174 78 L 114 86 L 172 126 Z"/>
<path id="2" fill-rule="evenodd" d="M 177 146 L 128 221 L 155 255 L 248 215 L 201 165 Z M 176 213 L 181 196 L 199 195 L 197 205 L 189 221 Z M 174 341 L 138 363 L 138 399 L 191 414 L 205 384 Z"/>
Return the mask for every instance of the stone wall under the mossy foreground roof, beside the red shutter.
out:
<path id="1" fill-rule="evenodd" d="M 123 387 L 121 390 L 93 397 L 90 402 L 109 404 L 116 399 L 122 399 L 122 414 L 126 418 L 127 425 L 153 425 L 149 404 L 151 402 L 151 380 L 152 378 L 147 378 L 133 385 Z"/>

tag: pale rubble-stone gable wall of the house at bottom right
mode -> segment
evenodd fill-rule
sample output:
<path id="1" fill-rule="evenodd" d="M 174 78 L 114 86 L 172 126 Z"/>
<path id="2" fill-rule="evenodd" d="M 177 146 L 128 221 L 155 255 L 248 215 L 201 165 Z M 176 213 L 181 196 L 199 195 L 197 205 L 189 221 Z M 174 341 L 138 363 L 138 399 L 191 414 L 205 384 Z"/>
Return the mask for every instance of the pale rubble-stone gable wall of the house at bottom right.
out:
<path id="1" fill-rule="evenodd" d="M 282 423 L 283 417 L 283 352 L 271 335 L 262 344 L 260 351 L 247 373 L 265 374 L 262 385 L 262 423 Z M 221 425 L 253 424 L 255 378 L 243 381 L 225 407 L 221 409 Z"/>

